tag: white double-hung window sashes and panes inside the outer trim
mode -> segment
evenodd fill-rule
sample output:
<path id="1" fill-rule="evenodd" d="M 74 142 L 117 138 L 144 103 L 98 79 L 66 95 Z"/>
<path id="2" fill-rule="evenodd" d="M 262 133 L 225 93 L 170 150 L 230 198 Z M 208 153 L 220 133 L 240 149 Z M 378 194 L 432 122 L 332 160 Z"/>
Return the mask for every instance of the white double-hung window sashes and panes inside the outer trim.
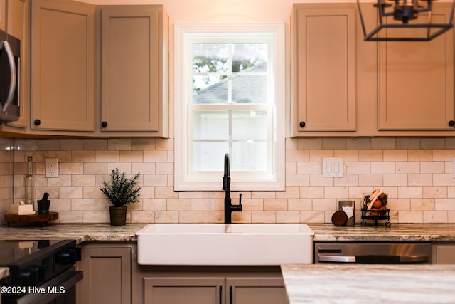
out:
<path id="1" fill-rule="evenodd" d="M 213 182 L 229 153 L 231 175 L 238 174 L 232 181 L 276 181 L 275 38 L 273 32 L 188 33 L 183 38 L 186 179 Z"/>

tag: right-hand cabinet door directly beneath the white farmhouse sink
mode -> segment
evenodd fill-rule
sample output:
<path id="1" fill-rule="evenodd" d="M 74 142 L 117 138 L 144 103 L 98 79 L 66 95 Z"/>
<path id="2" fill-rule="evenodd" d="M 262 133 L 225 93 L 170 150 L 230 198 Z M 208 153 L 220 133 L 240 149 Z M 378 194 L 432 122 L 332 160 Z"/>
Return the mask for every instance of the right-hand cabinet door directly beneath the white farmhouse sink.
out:
<path id="1" fill-rule="evenodd" d="M 228 278 L 228 300 L 232 304 L 287 304 L 282 278 Z"/>

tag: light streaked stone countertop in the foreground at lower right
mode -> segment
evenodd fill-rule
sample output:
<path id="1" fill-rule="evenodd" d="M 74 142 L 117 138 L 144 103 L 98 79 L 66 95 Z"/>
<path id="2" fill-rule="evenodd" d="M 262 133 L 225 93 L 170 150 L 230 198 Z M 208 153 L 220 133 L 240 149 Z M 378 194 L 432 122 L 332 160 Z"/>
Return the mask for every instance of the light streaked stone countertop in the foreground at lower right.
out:
<path id="1" fill-rule="evenodd" d="M 283 265 L 290 304 L 454 303 L 455 265 Z"/>

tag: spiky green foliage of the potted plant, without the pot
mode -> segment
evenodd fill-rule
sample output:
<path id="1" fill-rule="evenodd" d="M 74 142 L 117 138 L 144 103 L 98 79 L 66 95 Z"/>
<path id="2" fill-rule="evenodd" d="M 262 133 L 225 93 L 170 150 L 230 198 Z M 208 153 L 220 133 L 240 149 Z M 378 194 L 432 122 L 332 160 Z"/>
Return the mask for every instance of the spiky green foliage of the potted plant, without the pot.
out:
<path id="1" fill-rule="evenodd" d="M 125 172 L 120 173 L 118 168 L 112 169 L 109 184 L 102 182 L 101 192 L 109 199 L 112 206 L 127 206 L 139 203 L 141 187 L 137 187 L 137 173 L 131 179 L 125 177 Z"/>

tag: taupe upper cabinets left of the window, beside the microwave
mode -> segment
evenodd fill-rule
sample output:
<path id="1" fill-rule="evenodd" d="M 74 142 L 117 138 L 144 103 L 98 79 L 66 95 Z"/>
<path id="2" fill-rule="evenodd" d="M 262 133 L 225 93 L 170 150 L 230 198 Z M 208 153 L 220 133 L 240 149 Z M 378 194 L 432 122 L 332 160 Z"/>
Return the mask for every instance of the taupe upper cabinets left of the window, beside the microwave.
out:
<path id="1" fill-rule="evenodd" d="M 163 6 L 10 2 L 0 0 L 0 28 L 9 23 L 4 8 L 13 10 L 11 21 L 24 41 L 22 66 L 28 68 L 21 70 L 21 96 L 28 98 L 21 107 L 26 115 L 1 125 L 0 132 L 168 137 Z"/>

